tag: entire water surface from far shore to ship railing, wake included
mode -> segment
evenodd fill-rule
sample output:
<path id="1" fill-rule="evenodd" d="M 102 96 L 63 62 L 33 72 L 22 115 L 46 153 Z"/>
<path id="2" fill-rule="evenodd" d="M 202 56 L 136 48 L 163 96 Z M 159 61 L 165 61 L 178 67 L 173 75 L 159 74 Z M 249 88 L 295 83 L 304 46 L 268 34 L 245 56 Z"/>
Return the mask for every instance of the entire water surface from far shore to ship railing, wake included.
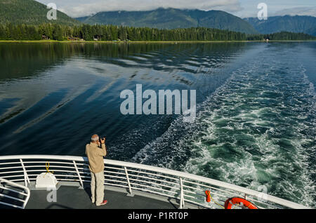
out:
<path id="1" fill-rule="evenodd" d="M 316 202 L 316 43 L 0 43 L 0 155 L 107 158 Z M 197 90 L 197 119 L 120 113 L 124 89 Z"/>

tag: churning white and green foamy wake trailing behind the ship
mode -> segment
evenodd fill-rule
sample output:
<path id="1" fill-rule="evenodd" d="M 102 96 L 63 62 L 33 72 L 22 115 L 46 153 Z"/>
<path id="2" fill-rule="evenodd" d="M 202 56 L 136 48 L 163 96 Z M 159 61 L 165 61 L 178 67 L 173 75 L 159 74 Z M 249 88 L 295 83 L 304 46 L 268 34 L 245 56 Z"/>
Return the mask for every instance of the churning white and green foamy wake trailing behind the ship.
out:
<path id="1" fill-rule="evenodd" d="M 176 119 L 134 160 L 255 190 L 264 185 L 268 194 L 315 207 L 314 86 L 291 50 L 275 60 L 277 50 L 249 59 L 197 106 L 195 123 Z"/>

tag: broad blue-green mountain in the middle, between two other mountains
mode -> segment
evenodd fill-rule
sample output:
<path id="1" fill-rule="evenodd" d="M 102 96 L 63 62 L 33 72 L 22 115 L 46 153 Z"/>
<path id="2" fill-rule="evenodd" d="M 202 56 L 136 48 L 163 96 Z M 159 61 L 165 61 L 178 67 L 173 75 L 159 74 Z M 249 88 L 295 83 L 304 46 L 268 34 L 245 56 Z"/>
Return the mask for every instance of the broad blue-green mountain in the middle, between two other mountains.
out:
<path id="1" fill-rule="evenodd" d="M 158 29 L 210 27 L 249 34 L 258 33 L 248 22 L 230 13 L 225 13 L 224 11 L 158 8 L 153 11 L 100 12 L 96 15 L 77 18 L 77 20 L 90 25 L 111 24 Z"/>

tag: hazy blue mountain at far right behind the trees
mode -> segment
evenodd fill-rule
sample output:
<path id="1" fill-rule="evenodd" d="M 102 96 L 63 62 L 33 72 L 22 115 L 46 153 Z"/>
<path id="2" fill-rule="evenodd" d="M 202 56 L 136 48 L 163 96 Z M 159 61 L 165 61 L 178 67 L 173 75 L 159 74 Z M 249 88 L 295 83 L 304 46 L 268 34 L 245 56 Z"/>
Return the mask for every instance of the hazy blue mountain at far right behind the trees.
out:
<path id="1" fill-rule="evenodd" d="M 306 15 L 284 15 L 268 17 L 268 20 L 258 20 L 258 18 L 245 18 L 261 34 L 271 34 L 275 32 L 303 32 L 316 36 L 316 18 Z"/>

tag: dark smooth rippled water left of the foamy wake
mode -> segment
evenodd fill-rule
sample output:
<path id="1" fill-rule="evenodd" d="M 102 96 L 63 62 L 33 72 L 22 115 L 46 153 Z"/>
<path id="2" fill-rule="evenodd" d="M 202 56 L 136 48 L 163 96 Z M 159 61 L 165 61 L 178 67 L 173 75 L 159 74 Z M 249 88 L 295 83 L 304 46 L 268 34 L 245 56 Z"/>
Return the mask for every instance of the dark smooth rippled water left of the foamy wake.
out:
<path id="1" fill-rule="evenodd" d="M 80 156 L 89 135 L 100 133 L 109 136 L 112 157 L 129 159 L 176 116 L 122 116 L 121 90 L 135 90 L 136 83 L 153 90 L 197 89 L 202 101 L 230 75 L 222 69 L 244 48 L 244 43 L 1 43 L 1 154 Z"/>

